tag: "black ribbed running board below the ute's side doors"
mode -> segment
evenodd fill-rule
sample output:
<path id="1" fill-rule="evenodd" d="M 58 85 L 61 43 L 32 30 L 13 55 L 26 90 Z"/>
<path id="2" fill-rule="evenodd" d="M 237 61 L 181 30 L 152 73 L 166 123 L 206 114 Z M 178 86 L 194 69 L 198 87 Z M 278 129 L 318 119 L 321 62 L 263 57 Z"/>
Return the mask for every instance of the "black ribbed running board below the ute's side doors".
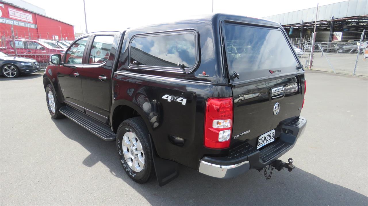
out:
<path id="1" fill-rule="evenodd" d="M 63 106 L 59 109 L 59 111 L 67 118 L 73 120 L 88 131 L 102 138 L 103 140 L 113 141 L 116 138 L 115 133 L 111 131 L 110 127 L 105 124 L 99 123 L 97 120 L 90 118 L 86 114 L 79 112 L 71 108 L 70 106 Z"/>

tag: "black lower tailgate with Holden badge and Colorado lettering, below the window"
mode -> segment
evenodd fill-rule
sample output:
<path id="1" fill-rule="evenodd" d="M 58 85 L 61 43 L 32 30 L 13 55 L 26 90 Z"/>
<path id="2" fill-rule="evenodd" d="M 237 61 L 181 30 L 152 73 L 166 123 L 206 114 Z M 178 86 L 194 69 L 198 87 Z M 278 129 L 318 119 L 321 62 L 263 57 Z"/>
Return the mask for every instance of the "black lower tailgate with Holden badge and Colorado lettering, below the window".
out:
<path id="1" fill-rule="evenodd" d="M 250 140 L 256 147 L 257 137 L 276 129 L 282 121 L 299 116 L 303 102 L 301 78 L 304 79 L 304 74 L 233 86 L 232 144 Z M 273 111 L 275 105 L 279 105 L 278 113 L 277 108 Z M 276 129 L 275 137 L 279 134 L 280 128 Z"/>

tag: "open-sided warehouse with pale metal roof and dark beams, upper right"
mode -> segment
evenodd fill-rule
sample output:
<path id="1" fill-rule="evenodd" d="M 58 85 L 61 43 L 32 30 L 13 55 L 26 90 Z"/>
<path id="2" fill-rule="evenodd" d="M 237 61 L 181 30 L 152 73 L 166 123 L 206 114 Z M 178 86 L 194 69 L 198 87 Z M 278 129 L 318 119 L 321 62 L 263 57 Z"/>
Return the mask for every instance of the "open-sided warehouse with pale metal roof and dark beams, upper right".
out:
<path id="1" fill-rule="evenodd" d="M 310 37 L 316 24 L 316 41 L 359 41 L 365 30 L 368 40 L 368 0 L 349 0 L 284 14 L 263 17 L 280 23 L 289 38 Z"/>

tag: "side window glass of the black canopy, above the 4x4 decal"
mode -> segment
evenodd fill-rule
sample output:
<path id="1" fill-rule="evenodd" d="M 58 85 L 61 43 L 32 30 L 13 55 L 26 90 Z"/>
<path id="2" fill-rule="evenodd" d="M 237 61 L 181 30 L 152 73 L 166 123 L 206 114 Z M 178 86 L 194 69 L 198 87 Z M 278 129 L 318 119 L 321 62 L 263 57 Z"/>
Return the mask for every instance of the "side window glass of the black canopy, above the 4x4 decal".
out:
<path id="1" fill-rule="evenodd" d="M 194 32 L 163 33 L 133 37 L 130 66 L 189 72 L 198 62 Z"/>

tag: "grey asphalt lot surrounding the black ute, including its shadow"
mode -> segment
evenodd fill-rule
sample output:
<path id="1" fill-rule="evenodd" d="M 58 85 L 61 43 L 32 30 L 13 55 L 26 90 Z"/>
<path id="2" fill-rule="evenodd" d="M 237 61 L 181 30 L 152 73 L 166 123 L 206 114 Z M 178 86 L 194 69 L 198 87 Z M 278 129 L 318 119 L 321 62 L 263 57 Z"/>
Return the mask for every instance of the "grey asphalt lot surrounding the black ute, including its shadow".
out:
<path id="1" fill-rule="evenodd" d="M 297 166 L 220 180 L 180 166 L 137 184 L 106 142 L 46 108 L 42 75 L 0 76 L 1 205 L 367 205 L 368 79 L 307 71 L 305 133 L 280 159 Z"/>

